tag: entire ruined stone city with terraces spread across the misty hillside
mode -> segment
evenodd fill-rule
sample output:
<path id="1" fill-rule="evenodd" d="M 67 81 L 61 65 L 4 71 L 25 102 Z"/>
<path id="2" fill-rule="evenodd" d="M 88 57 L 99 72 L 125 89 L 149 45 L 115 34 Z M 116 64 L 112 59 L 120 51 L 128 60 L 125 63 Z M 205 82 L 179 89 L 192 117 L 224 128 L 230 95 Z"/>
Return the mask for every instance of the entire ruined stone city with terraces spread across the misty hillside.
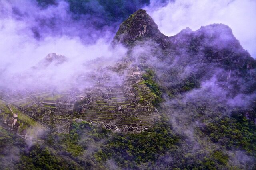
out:
<path id="1" fill-rule="evenodd" d="M 68 133 L 71 122 L 77 119 L 120 131 L 142 131 L 150 127 L 157 117 L 157 110 L 152 105 L 156 96 L 146 86 L 140 67 L 124 59 L 114 66 L 100 68 L 98 72 L 96 76 L 92 75 L 90 88 L 78 90 L 74 87 L 62 93 L 34 91 L 22 98 L 10 96 L 10 103 L 28 117 L 60 133 Z M 0 109 L 1 112 L 4 110 Z M 19 122 L 15 124 L 14 120 L 5 117 L 4 123 L 19 131 Z M 27 133 L 26 128 L 20 130 L 20 134 Z"/>

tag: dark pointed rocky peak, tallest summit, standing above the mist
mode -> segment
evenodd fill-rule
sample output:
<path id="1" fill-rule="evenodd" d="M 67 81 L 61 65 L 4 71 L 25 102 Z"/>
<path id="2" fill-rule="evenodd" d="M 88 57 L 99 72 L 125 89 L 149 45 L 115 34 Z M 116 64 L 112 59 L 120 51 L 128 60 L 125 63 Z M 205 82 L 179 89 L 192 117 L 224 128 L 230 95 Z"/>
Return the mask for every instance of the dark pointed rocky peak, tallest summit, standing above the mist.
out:
<path id="1" fill-rule="evenodd" d="M 158 41 L 164 35 L 160 33 L 158 26 L 146 10 L 140 9 L 120 25 L 114 41 L 132 45 L 134 41 L 148 37 Z"/>

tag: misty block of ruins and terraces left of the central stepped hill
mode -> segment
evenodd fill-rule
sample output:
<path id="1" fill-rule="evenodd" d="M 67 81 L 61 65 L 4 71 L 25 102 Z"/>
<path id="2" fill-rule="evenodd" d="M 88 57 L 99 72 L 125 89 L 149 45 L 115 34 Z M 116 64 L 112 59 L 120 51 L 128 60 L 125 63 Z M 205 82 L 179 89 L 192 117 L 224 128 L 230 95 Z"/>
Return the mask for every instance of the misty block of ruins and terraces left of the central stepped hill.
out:
<path id="1" fill-rule="evenodd" d="M 34 96 L 31 105 L 20 105 L 19 108 L 46 127 L 68 133 L 75 99 L 72 96 L 52 92 L 39 96 Z"/>

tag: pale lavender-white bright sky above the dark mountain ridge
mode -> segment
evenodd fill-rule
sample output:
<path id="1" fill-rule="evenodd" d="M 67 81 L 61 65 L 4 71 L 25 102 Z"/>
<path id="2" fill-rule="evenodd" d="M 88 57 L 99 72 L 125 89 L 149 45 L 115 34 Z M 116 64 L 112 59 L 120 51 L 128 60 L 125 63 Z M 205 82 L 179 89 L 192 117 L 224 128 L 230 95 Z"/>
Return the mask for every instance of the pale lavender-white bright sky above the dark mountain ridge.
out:
<path id="1" fill-rule="evenodd" d="M 213 23 L 228 25 L 236 39 L 256 59 L 256 0 L 176 0 L 159 7 L 146 6 L 164 35 L 172 36 L 189 27 L 193 31 Z"/>

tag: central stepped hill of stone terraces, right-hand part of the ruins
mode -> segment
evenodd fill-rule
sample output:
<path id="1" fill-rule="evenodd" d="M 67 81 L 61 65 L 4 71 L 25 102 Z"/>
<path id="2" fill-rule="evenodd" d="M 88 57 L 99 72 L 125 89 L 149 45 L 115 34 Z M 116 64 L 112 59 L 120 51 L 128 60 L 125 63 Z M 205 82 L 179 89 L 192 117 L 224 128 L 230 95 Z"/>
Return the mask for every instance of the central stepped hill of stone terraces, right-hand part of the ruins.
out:
<path id="1" fill-rule="evenodd" d="M 86 88 L 83 91 L 85 104 L 74 117 L 101 121 L 106 127 L 117 130 L 143 129 L 152 125 L 157 115 L 152 105 L 156 96 L 145 84 L 140 69 L 125 64 L 119 63 L 112 68 L 120 74 L 126 73 L 123 85 Z"/>

